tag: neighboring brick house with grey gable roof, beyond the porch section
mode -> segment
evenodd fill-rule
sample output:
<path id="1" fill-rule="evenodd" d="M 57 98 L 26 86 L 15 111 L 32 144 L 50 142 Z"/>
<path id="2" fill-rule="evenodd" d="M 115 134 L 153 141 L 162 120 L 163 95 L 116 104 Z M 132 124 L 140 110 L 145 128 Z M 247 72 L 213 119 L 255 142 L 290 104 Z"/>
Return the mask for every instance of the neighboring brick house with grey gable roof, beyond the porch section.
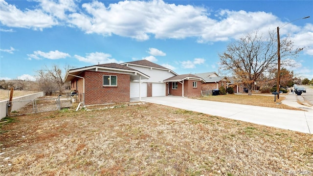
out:
<path id="1" fill-rule="evenodd" d="M 222 86 L 226 89 L 230 83 L 227 76 L 219 76 L 216 72 L 199 73 L 194 75 L 205 81 L 201 84 L 201 90 L 214 90 L 219 89 Z"/>

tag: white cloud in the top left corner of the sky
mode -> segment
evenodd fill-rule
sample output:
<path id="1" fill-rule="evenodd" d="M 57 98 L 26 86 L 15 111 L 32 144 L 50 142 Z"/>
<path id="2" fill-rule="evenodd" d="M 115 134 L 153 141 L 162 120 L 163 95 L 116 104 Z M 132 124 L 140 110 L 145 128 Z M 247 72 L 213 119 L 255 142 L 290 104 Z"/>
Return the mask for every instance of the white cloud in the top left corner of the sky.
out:
<path id="1" fill-rule="evenodd" d="M 52 27 L 58 24 L 52 16 L 45 14 L 40 9 L 22 11 L 15 5 L 10 5 L 4 0 L 0 0 L 1 18 L 3 25 L 10 27 L 33 28 L 35 30 Z"/>

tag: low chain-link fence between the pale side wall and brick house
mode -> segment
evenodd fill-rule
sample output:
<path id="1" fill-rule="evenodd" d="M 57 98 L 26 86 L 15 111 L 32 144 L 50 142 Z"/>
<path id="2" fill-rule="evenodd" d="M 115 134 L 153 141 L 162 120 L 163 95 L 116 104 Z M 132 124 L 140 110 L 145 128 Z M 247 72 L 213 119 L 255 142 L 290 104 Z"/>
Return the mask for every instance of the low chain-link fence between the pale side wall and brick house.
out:
<path id="1" fill-rule="evenodd" d="M 71 97 L 60 95 L 58 97 L 42 97 L 34 100 L 20 100 L 7 103 L 7 116 L 16 116 L 52 110 L 61 110 L 72 106 Z"/>

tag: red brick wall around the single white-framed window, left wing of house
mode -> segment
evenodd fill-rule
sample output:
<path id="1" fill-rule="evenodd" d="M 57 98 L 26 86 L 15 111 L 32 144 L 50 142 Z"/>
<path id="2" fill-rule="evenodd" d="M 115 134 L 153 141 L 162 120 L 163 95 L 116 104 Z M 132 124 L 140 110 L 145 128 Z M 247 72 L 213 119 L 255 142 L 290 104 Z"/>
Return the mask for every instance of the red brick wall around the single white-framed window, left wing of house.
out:
<path id="1" fill-rule="evenodd" d="M 117 76 L 117 86 L 103 86 L 103 75 Z M 85 104 L 130 101 L 130 75 L 85 71 Z"/>

